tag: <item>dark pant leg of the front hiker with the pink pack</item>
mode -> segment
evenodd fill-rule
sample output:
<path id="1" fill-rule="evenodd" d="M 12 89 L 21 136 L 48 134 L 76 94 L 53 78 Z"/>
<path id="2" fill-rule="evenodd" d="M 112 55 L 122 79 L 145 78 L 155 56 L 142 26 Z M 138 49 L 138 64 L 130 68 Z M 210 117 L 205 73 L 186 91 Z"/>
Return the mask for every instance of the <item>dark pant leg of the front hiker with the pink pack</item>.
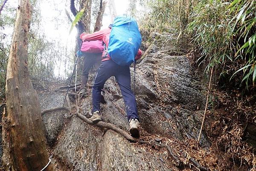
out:
<path id="1" fill-rule="evenodd" d="M 81 89 L 86 88 L 89 70 L 91 69 L 92 66 L 93 66 L 92 58 L 90 58 L 90 56 L 85 55 L 83 70 L 82 70 L 82 75 L 81 75 Z"/>

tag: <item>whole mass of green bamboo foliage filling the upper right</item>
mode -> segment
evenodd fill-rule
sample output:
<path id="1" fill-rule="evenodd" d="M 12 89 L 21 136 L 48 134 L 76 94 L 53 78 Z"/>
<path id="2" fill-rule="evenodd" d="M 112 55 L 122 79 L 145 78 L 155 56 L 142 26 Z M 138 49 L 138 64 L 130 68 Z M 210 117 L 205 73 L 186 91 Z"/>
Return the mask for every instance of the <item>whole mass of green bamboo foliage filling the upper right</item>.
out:
<path id="1" fill-rule="evenodd" d="M 198 65 L 221 68 L 220 76 L 255 85 L 255 0 L 148 0 L 148 6 L 143 31 L 175 28 L 177 39 L 187 36 L 200 50 Z"/>

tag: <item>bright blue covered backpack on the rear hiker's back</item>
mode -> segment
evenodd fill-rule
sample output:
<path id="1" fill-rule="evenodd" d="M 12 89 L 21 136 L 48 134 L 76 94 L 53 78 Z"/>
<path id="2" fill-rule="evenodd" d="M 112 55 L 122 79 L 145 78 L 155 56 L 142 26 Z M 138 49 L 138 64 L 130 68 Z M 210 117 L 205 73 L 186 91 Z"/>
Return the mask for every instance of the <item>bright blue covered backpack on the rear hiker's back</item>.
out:
<path id="1" fill-rule="evenodd" d="M 141 35 L 132 17 L 115 18 L 108 43 L 108 54 L 119 65 L 130 66 L 140 48 Z"/>

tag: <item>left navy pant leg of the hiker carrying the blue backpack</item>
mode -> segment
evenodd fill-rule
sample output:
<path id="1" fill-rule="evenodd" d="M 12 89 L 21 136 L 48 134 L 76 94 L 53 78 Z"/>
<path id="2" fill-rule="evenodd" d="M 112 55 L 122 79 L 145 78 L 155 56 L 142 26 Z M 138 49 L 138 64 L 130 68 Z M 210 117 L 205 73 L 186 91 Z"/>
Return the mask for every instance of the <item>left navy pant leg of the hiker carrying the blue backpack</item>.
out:
<path id="1" fill-rule="evenodd" d="M 96 78 L 93 84 L 93 112 L 96 110 L 100 111 L 100 101 L 102 88 L 108 78 L 113 75 L 113 62 L 112 60 L 103 61 L 96 74 Z"/>

